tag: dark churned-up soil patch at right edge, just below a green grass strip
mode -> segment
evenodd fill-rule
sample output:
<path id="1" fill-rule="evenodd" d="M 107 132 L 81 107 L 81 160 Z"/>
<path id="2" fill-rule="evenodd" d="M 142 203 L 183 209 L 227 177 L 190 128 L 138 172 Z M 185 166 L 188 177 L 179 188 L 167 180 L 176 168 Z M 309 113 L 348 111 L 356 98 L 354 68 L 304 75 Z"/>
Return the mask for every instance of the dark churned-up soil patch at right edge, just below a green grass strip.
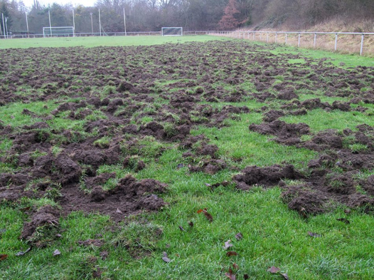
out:
<path id="1" fill-rule="evenodd" d="M 280 114 L 267 114 L 272 115 L 277 117 Z M 284 127 L 279 128 L 281 125 Z M 373 177 L 360 178 L 360 174 L 374 169 L 373 128 L 360 125 L 357 131 L 345 129 L 342 132 L 328 129 L 312 135 L 308 141 L 301 141 L 300 138 L 294 141 L 295 134 L 292 131 L 297 125 L 291 126 L 289 133 L 288 124 L 279 121 L 251 125 L 250 128 L 276 135 L 277 142 L 281 139 L 288 145 L 319 152 L 319 157 L 309 161 L 308 169 L 299 173 L 290 165 L 264 168 L 250 166 L 233 177 L 236 187 L 248 190 L 255 185 L 279 186 L 284 191 L 282 197 L 289 208 L 301 214 L 330 211 L 339 204 L 351 208 L 362 207 L 367 211 L 372 209 Z M 308 131 L 307 127 L 305 129 Z M 299 134 L 297 131 L 296 135 Z"/>

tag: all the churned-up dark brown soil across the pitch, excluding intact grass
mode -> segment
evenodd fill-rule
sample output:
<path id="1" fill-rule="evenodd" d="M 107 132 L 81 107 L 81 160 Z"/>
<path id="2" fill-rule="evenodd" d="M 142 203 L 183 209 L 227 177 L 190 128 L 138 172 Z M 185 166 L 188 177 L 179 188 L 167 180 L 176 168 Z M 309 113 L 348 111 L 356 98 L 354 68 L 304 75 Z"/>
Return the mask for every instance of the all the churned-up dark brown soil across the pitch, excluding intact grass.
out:
<path id="1" fill-rule="evenodd" d="M 279 118 L 316 108 L 369 114 L 365 105 L 374 104 L 374 69 L 345 69 L 326 59 L 273 54 L 271 49 L 216 41 L 0 50 L 0 106 L 37 101 L 54 105 L 43 114 L 23 110 L 23 115 L 36 120 L 24 126 L 10 126 L 6 116 L 0 116 L 0 135 L 12 142 L 1 157 L 8 168 L 0 174 L 0 199 L 17 202 L 24 196 L 47 196 L 63 209 L 61 213 L 47 207 L 32 213 L 23 237 L 70 211 L 109 214 L 120 221 L 125 214 L 163 207 L 160 194 L 167 185 L 162 182 L 127 175 L 104 190 L 102 186 L 116 174 L 97 173 L 103 165 L 120 164 L 134 173 L 146 168 L 136 157 L 145 136 L 165 145 L 177 144 L 186 161 L 199 158 L 200 165 L 186 163 L 190 172 L 214 174 L 231 168 L 217 156 L 217 146 L 203 135 L 192 136 L 190 130 L 196 125 L 219 128 L 227 118 L 251 113 L 237 104 L 249 99 L 267 106 L 258 110 L 263 123 L 250 125 L 248 133 L 317 151 L 319 157 L 303 172 L 287 163 L 249 166 L 232 178 L 238 189 L 280 186 L 289 207 L 308 214 L 328 211 L 336 204 L 369 209 L 374 204 L 374 176 L 359 175 L 373 169 L 373 127 L 362 124 L 355 131 L 312 133 L 306 124 L 286 124 Z M 304 60 L 293 64 L 290 59 Z M 252 87 L 244 89 L 243 84 Z M 349 101 L 299 100 L 301 93 L 315 91 Z M 222 102 L 227 105 L 213 106 Z M 56 120 L 82 121 L 83 129 L 52 126 Z"/>

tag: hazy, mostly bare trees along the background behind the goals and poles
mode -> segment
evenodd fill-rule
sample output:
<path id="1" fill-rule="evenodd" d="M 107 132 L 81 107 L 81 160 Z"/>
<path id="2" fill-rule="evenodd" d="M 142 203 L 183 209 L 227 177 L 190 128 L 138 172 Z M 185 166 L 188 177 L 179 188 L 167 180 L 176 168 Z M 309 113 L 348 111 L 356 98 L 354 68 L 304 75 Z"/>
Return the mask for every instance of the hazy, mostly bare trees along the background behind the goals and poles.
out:
<path id="1" fill-rule="evenodd" d="M 51 4 L 34 0 L 32 7 L 21 1 L 1 0 L 0 13 L 7 18 L 11 32 L 42 33 L 49 26 L 73 26 L 77 33 L 99 32 L 99 9 L 102 32 L 126 30 L 160 31 L 165 26 L 184 30 L 231 30 L 242 27 L 276 27 L 289 23 L 306 28 L 334 16 L 372 18 L 373 0 L 98 0 L 92 7 Z M 0 18 L 1 32 L 3 21 Z"/>

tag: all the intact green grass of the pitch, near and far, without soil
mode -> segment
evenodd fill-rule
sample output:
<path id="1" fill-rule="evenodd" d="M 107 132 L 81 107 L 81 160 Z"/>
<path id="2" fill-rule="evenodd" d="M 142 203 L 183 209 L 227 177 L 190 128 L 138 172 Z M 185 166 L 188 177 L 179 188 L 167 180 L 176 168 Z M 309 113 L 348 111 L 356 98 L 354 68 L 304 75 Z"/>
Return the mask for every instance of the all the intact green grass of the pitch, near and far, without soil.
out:
<path id="1" fill-rule="evenodd" d="M 215 39 L 232 40 L 215 36 L 40 38 L 1 40 L 0 48 L 138 46 L 207 42 Z M 259 52 L 266 52 L 266 55 L 300 54 L 305 57 L 327 58 L 326 63 L 331 62 L 334 66 L 342 68 L 374 66 L 374 58 L 264 43 L 249 43 L 245 52 L 250 54 L 257 48 Z M 220 52 L 221 50 L 218 51 L 219 55 L 214 56 L 217 60 L 221 56 L 227 55 L 225 52 Z M 12 52 L 15 53 L 17 50 L 9 50 L 10 54 Z M 142 55 L 144 53 L 139 54 L 141 57 Z M 165 60 L 170 58 L 168 55 L 165 55 Z M 170 56 L 174 55 L 170 54 Z M 193 53 L 193 55 L 196 54 Z M 69 52 L 66 53 L 65 57 L 67 56 L 69 56 Z M 205 53 L 201 55 L 201 57 L 203 56 Z M 209 55 L 206 56 L 209 57 Z M 104 60 L 104 58 L 100 59 Z M 269 61 L 271 59 L 272 56 L 269 56 Z M 146 69 L 145 66 L 137 64 L 139 61 L 141 59 L 136 61 L 133 67 Z M 294 64 L 294 68 L 301 67 L 304 62 L 303 58 L 288 61 L 288 63 Z M 46 61 L 47 63 L 54 63 L 53 59 Z M 64 63 L 62 59 L 61 67 L 72 67 L 64 65 Z M 133 63 L 131 59 L 129 59 L 129 63 Z M 251 61 L 242 63 L 237 59 L 233 65 L 242 67 L 244 73 L 251 67 L 255 67 L 251 63 Z M 231 67 L 232 65 L 227 66 Z M 45 67 L 45 65 L 41 65 L 41 67 Z M 120 68 L 123 65 L 116 65 L 114 62 L 110 67 Z M 31 68 L 31 66 L 25 68 L 21 73 L 33 76 L 34 74 L 29 74 L 34 70 Z M 76 70 L 73 67 L 72 69 Z M 81 70 L 84 67 L 80 66 L 78 69 Z M 179 69 L 176 67 L 172 70 L 177 72 Z M 87 70 L 85 75 L 88 76 L 91 72 Z M 178 76 L 178 72 L 175 72 L 175 81 L 183 81 L 183 77 Z M 201 82 L 200 77 L 205 73 L 197 72 L 198 70 L 193 72 L 196 73 L 196 81 Z M 227 73 L 231 74 L 230 71 Z M 224 74 L 217 72 L 217 76 Z M 0 77 L 2 75 L 5 73 L 0 71 Z M 167 77 L 166 72 L 163 75 Z M 200 77 L 197 77 L 198 75 Z M 252 77 L 246 76 L 248 80 L 236 87 L 230 84 L 224 84 L 223 87 L 227 87 L 229 90 L 240 89 L 246 92 L 256 92 L 250 81 Z M 100 77 L 100 79 L 102 78 Z M 276 79 L 277 83 L 282 82 L 283 76 L 276 76 Z M 22 114 L 24 110 L 47 116 L 64 102 L 79 103 L 86 99 L 83 92 L 77 90 L 82 88 L 79 85 L 85 81 L 84 77 L 72 75 L 70 82 L 76 88 L 71 86 L 69 89 L 53 89 L 52 94 L 54 91 L 61 93 L 58 97 L 51 97 L 47 101 L 10 102 L 0 106 L 0 120 L 2 121 L 0 125 L 9 125 L 15 129 L 15 132 L 24 133 L 23 126 L 43 121 L 39 117 Z M 174 92 L 174 88 L 167 87 L 170 83 L 169 80 L 165 82 L 164 79 L 158 79 L 154 88 L 160 89 L 160 91 L 150 93 L 155 98 L 154 102 L 138 101 L 138 105 L 146 105 L 138 112 L 142 113 L 141 121 L 144 124 L 152 121 L 156 112 L 161 110 L 162 105 L 169 102 L 166 99 L 158 98 L 159 92 Z M 223 82 L 220 81 L 213 86 L 219 88 L 222 84 Z M 27 94 L 31 91 L 28 85 L 22 86 L 25 87 L 25 91 L 17 92 L 17 94 Z M 67 84 L 66 87 L 68 88 L 70 85 Z M 42 90 L 43 88 L 40 90 L 40 94 L 42 94 Z M 64 90 L 71 90 L 72 93 L 69 93 L 70 95 L 66 92 L 62 93 Z M 185 90 L 193 92 L 195 88 L 193 90 L 186 88 Z M 112 99 L 118 98 L 113 97 L 116 87 L 110 85 L 92 86 L 87 91 L 92 92 L 92 95 L 97 94 L 100 98 L 106 96 Z M 298 99 L 303 101 L 310 98 L 321 98 L 323 102 L 329 103 L 335 100 L 348 101 L 346 97 L 325 96 L 324 92 L 312 90 L 305 94 L 300 93 Z M 108 181 L 103 187 L 113 188 L 118 179 L 128 173 L 133 174 L 137 179 L 154 178 L 169 185 L 168 192 L 161 194 L 168 205 L 159 212 L 125 216 L 124 221 L 118 225 L 111 221 L 107 215 L 72 212 L 68 216 L 60 218 L 58 233 L 61 234 L 58 238 L 52 236 L 51 240 L 47 239 L 46 241 L 47 247 L 33 247 L 31 251 L 20 256 L 15 254 L 30 247 L 27 241 L 19 238 L 24 223 L 28 221 L 25 211 L 30 208 L 38 209 L 44 205 L 55 206 L 58 203 L 53 201 L 51 194 L 42 198 L 24 197 L 19 203 L 0 200 L 0 255 L 3 256 L 0 257 L 0 278 L 228 279 L 225 272 L 229 271 L 229 267 L 233 267 L 236 279 L 243 279 L 247 276 L 249 279 L 283 279 L 282 275 L 273 275 L 267 271 L 268 267 L 276 266 L 282 272 L 287 272 L 290 279 L 373 279 L 374 231 L 372 229 L 374 228 L 374 218 L 372 214 L 365 214 L 362 209 L 355 209 L 347 213 L 344 211 L 347 210 L 346 207 L 341 206 L 334 211 L 311 215 L 305 219 L 296 211 L 288 209 L 282 201 L 282 190 L 279 187 L 265 189 L 255 186 L 249 191 L 237 190 L 233 184 L 227 187 L 220 185 L 215 189 L 208 187 L 207 183 L 230 181 L 232 176 L 239 172 L 238 170 L 248 165 L 270 166 L 273 164 L 282 165 L 286 162 L 302 170 L 310 159 L 318 156 L 315 151 L 284 146 L 271 141 L 272 136 L 249 131 L 248 126 L 251 123 L 262 122 L 261 108 L 269 106 L 272 109 L 278 109 L 280 103 L 278 101 L 262 103 L 247 96 L 243 101 L 237 103 L 200 102 L 200 104 L 208 104 L 218 109 L 229 105 L 247 106 L 251 110 L 250 113 L 235 114 L 233 118 L 225 119 L 224 127 L 196 125 L 191 130 L 191 135 L 203 134 L 210 140 L 210 144 L 216 145 L 219 148 L 218 157 L 225 159 L 234 169 L 225 168 L 213 175 L 203 172 L 189 172 L 185 158 L 182 156 L 185 150 L 178 147 L 178 143 L 161 142 L 153 136 L 140 137 L 140 145 L 136 147 L 139 151 L 134 151 L 134 156 L 142 159 L 146 168 L 135 172 L 132 169 L 123 168 L 121 163 L 101 165 L 97 171 L 98 174 L 116 173 L 116 178 Z M 371 111 L 374 109 L 372 104 L 360 103 L 360 105 Z M 68 117 L 69 111 L 66 111 L 51 119 L 46 119 L 45 122 L 50 126 L 50 130 L 65 129 L 79 132 L 82 139 L 98 137 L 95 134 L 99 133 L 98 131 L 87 132 L 84 130 L 84 126 L 96 119 L 105 118 L 106 111 L 95 109 L 93 106 L 87 108 L 91 108 L 92 113 L 83 119 L 71 119 Z M 154 114 L 146 114 L 149 112 Z M 198 113 L 196 113 L 197 117 L 199 117 Z M 178 115 L 172 116 L 176 119 L 179 117 Z M 139 121 L 137 116 L 131 117 L 132 122 Z M 374 124 L 372 116 L 364 113 L 339 110 L 327 112 L 322 109 L 311 110 L 308 114 L 301 116 L 284 116 L 282 119 L 287 123 L 304 122 L 311 127 L 313 132 L 328 128 L 342 131 L 344 128 L 354 129 L 362 123 L 370 126 Z M 178 119 L 178 121 L 183 120 Z M 116 132 L 110 131 L 110 133 Z M 51 142 L 53 154 L 59 154 L 63 149 L 61 142 L 65 139 L 60 139 L 60 136 L 60 134 L 52 134 L 51 136 L 55 137 L 52 139 L 53 143 Z M 102 141 L 103 144 L 105 141 L 110 143 L 110 140 L 111 137 L 105 136 L 98 138 L 96 143 L 99 143 L 98 141 Z M 7 155 L 7 151 L 12 147 L 12 141 L 13 139 L 8 135 L 0 135 L 0 156 Z M 160 151 L 161 155 L 156 160 L 155 155 Z M 127 152 L 131 154 L 131 151 Z M 36 150 L 32 156 L 36 158 L 41 154 Z M 241 159 L 241 161 L 231 162 L 233 158 Z M 184 163 L 184 166 L 176 168 L 179 163 Z M 11 161 L 0 163 L 1 173 L 15 171 Z M 367 177 L 372 174 L 374 174 L 373 170 L 366 170 L 364 174 L 359 175 Z M 289 183 L 296 184 L 297 182 Z M 213 215 L 213 222 L 197 213 L 197 210 L 205 207 Z M 342 217 L 349 219 L 350 224 L 346 225 L 336 221 L 337 218 Z M 194 226 L 191 227 L 189 222 L 193 222 Z M 243 236 L 240 240 L 235 237 L 238 232 Z M 312 237 L 308 232 L 317 233 L 320 236 Z M 44 234 L 40 230 L 41 238 L 45 238 Z M 48 234 L 46 235 L 50 237 Z M 83 246 L 79 243 L 94 238 L 102 239 L 104 245 L 101 247 Z M 231 241 L 233 247 L 230 250 L 237 252 L 237 255 L 228 256 L 226 254 L 226 250 L 222 247 L 227 241 Z M 56 249 L 61 254 L 53 255 Z M 106 252 L 107 256 L 103 252 Z M 171 262 L 163 261 L 163 252 L 167 252 Z"/>

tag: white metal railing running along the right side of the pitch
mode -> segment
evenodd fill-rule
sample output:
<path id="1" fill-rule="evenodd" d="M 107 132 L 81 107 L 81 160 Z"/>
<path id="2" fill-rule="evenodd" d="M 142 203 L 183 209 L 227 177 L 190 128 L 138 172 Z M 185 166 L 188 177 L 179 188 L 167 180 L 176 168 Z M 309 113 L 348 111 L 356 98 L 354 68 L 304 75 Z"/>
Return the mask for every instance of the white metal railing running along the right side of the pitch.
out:
<path id="1" fill-rule="evenodd" d="M 284 35 L 284 44 L 287 45 L 288 35 L 297 35 L 297 47 L 301 45 L 301 39 L 303 34 L 311 34 L 313 35 L 313 48 L 316 47 L 317 44 L 317 35 L 334 35 L 334 51 L 338 50 L 338 35 L 360 35 L 360 55 L 363 54 L 364 49 L 364 38 L 365 36 L 372 36 L 374 33 L 358 33 L 358 32 L 295 32 L 295 31 L 208 31 L 207 34 L 210 35 L 220 35 L 220 36 L 228 36 L 233 38 L 243 38 L 243 39 L 253 39 L 256 41 L 256 35 L 258 40 L 257 41 L 265 41 L 262 35 L 266 35 L 266 42 L 269 42 L 269 34 L 275 35 L 275 42 L 274 43 L 281 43 L 279 41 L 278 35 Z"/>

